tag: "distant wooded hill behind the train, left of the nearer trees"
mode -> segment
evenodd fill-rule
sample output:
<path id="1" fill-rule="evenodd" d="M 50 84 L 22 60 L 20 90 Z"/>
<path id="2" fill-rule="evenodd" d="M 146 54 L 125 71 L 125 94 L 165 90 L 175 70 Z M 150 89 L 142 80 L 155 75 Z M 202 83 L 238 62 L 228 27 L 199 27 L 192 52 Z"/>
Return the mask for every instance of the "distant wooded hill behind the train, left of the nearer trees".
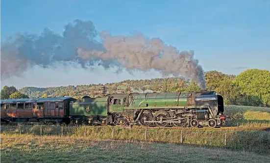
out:
<path id="1" fill-rule="evenodd" d="M 130 92 L 175 92 L 175 91 L 199 91 L 200 88 L 194 82 L 189 82 L 181 77 L 154 78 L 150 80 L 125 80 L 118 83 L 89 84 L 67 87 L 36 88 L 24 87 L 19 91 L 29 97 L 42 96 L 72 96 L 81 98 L 84 95 L 92 97 L 101 96 L 101 87 L 107 87 L 107 93 Z"/>

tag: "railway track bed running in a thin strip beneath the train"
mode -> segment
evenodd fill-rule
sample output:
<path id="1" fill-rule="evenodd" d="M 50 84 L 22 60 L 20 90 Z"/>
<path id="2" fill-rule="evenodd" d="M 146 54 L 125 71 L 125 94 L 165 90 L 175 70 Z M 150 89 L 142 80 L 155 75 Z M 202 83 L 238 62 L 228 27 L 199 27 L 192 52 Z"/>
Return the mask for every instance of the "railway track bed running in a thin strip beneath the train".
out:
<path id="1" fill-rule="evenodd" d="M 44 125 L 43 123 L 22 123 L 23 125 L 43 125 L 43 126 L 60 126 L 60 125 Z M 10 126 L 10 125 L 18 125 L 18 123 L 11 123 L 11 124 L 1 124 L 1 126 Z M 68 125 L 68 126 L 76 126 L 76 125 Z M 95 126 L 98 127 L 98 126 Z M 217 127 L 217 128 L 211 128 L 208 126 L 203 127 L 145 127 L 145 126 L 102 126 L 102 127 L 118 127 L 118 128 L 124 128 L 124 129 L 130 129 L 130 128 L 144 128 L 144 129 L 182 129 L 182 130 L 257 130 L 257 131 L 270 131 L 270 127 Z"/>

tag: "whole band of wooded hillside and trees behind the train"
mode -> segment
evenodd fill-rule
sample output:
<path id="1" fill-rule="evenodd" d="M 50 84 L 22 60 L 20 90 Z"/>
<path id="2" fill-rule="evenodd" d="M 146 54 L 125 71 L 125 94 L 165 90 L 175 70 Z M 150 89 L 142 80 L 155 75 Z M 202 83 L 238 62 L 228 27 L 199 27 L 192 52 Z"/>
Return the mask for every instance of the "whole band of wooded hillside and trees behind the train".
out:
<path id="1" fill-rule="evenodd" d="M 216 91 L 224 98 L 226 105 L 249 105 L 270 107 L 270 71 L 249 69 L 239 75 L 229 75 L 212 70 L 205 72 L 207 91 Z M 196 92 L 201 88 L 195 81 L 183 77 L 154 78 L 147 80 L 124 80 L 118 83 L 61 86 L 49 88 L 4 86 L 1 99 L 32 98 L 50 96 L 71 96 L 80 99 L 84 95 L 102 96 L 101 87 L 107 87 L 107 93 L 131 92 Z"/>

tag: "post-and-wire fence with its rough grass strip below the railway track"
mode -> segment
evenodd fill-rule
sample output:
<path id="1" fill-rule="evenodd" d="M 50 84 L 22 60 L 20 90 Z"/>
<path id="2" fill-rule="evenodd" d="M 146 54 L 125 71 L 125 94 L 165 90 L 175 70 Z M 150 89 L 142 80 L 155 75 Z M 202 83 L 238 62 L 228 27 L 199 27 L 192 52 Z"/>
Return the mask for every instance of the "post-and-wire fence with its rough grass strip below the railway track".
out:
<path id="1" fill-rule="evenodd" d="M 108 126 L 1 125 L 1 134 L 144 140 L 225 147 L 270 154 L 270 131 L 120 128 Z"/>

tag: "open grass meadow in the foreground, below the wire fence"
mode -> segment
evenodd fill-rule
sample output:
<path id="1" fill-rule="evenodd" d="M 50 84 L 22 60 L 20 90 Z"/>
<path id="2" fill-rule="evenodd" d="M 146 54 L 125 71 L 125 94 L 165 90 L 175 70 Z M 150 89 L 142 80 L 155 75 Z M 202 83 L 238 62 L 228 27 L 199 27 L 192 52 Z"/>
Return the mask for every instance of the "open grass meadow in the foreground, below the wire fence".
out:
<path id="1" fill-rule="evenodd" d="M 269 163 L 269 160 L 269 155 L 193 145 L 1 135 L 1 163 Z"/>

